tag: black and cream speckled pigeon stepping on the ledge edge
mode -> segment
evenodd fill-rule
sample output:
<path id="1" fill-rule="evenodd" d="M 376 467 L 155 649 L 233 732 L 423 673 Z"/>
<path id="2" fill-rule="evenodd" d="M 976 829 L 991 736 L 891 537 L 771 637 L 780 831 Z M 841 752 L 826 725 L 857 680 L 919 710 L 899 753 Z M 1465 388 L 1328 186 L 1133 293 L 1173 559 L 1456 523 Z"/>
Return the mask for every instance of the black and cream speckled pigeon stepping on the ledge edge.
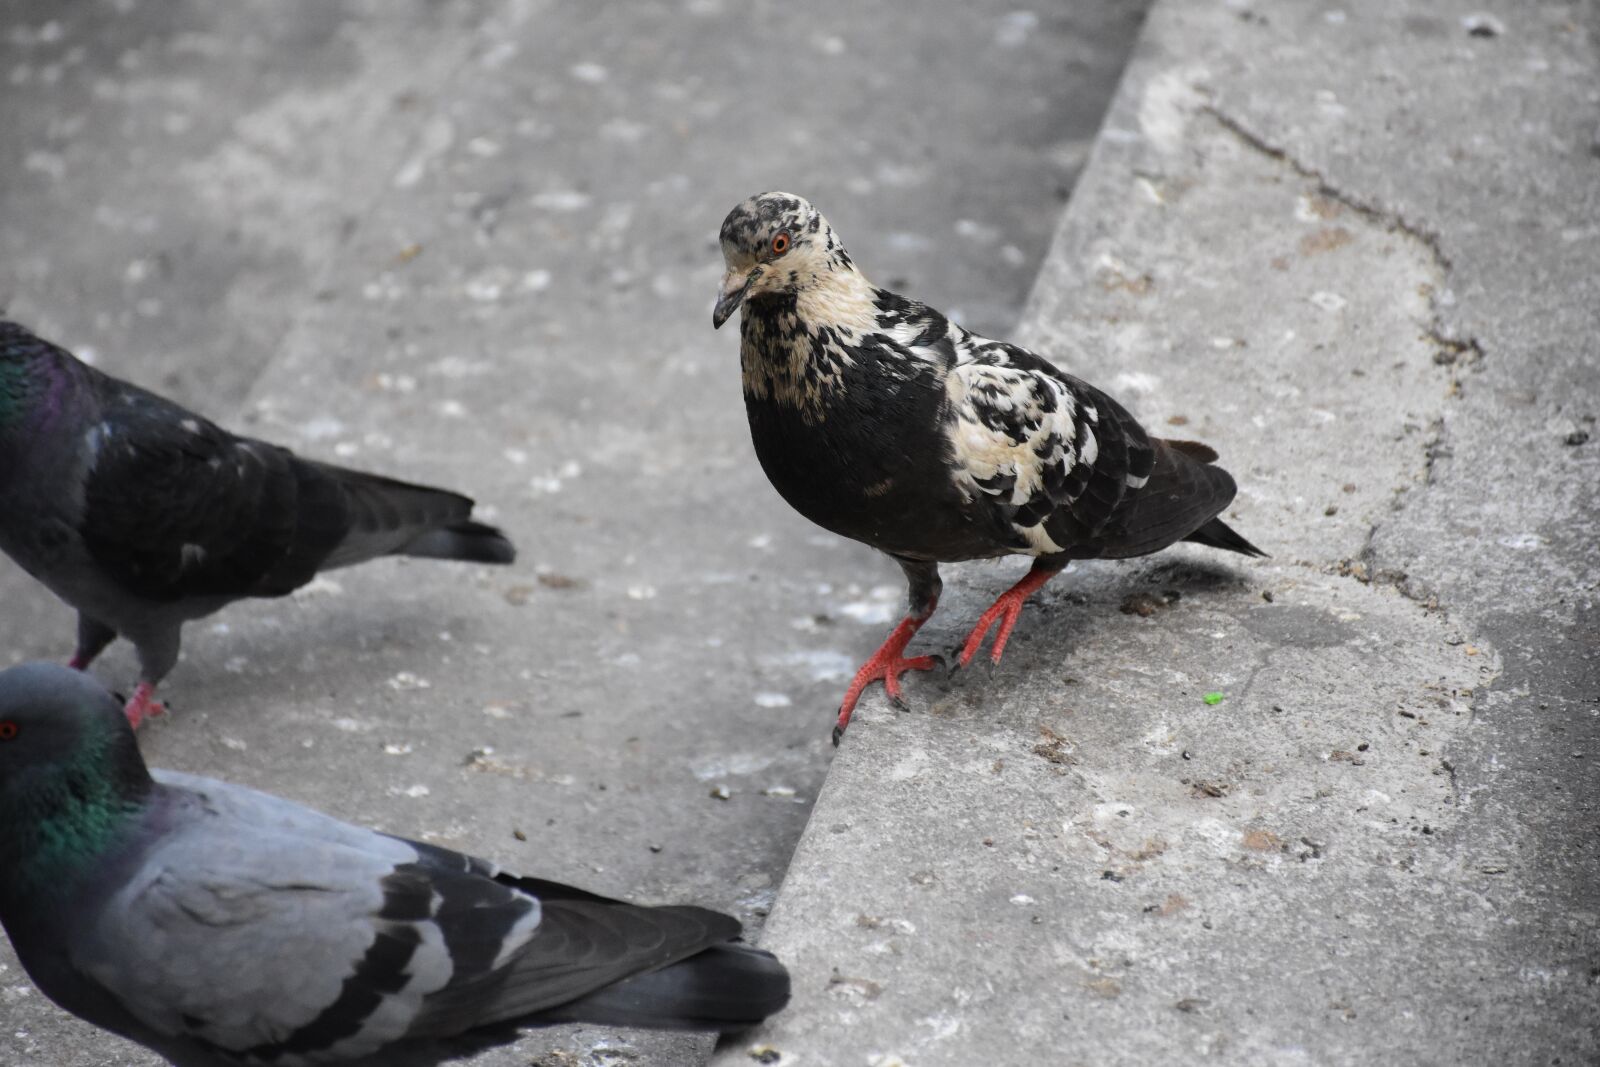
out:
<path id="1" fill-rule="evenodd" d="M 939 600 L 939 563 L 1030 555 L 960 649 L 998 622 L 1000 662 L 1022 601 L 1070 560 L 1128 558 L 1176 541 L 1264 555 L 1218 515 L 1234 478 L 1194 442 L 1150 437 L 1122 405 L 1013 344 L 874 286 L 816 208 L 768 192 L 722 224 L 726 274 L 712 325 L 742 307 L 739 363 L 755 454 L 795 510 L 894 557 L 910 608 L 856 672 L 862 689 L 906 657 Z"/>

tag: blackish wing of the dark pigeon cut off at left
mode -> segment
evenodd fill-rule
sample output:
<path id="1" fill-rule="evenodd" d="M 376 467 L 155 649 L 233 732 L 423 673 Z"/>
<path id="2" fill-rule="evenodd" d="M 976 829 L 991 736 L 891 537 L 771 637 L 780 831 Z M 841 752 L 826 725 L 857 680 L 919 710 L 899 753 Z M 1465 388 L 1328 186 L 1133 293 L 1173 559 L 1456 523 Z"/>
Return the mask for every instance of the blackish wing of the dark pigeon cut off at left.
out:
<path id="1" fill-rule="evenodd" d="M 112 581 L 160 601 L 277 595 L 310 581 L 350 522 L 333 480 L 283 448 L 102 381 L 80 534 Z"/>

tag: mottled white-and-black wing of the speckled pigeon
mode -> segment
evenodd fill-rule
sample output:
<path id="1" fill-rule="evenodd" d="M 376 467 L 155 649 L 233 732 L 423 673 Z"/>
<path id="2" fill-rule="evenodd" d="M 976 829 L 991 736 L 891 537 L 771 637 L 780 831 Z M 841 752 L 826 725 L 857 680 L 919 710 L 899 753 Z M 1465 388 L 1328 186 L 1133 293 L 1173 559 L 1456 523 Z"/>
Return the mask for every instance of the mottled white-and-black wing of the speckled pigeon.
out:
<path id="1" fill-rule="evenodd" d="M 1091 545 L 1154 469 L 1122 405 L 1016 346 L 965 336 L 946 402 L 955 485 L 1018 552 L 1099 555 Z"/>

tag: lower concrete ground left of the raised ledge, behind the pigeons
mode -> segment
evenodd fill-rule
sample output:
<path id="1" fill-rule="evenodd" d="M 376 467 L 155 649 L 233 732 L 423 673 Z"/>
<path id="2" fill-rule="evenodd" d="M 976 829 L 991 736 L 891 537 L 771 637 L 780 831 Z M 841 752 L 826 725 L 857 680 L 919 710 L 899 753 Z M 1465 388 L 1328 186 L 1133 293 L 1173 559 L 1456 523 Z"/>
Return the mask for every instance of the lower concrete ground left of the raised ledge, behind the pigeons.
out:
<path id="1" fill-rule="evenodd" d="M 232 427 L 470 491 L 522 547 L 192 625 L 152 763 L 758 926 L 902 590 L 762 478 L 717 226 L 803 192 L 877 278 L 1008 330 L 1141 14 L 8 3 L 0 309 Z M 0 654 L 67 654 L 10 565 L 0 601 Z M 128 686 L 128 649 L 96 672 Z M 0 1017 L 0 1064 L 154 1062 L 3 947 Z M 563 1029 L 474 1062 L 706 1051 Z"/>

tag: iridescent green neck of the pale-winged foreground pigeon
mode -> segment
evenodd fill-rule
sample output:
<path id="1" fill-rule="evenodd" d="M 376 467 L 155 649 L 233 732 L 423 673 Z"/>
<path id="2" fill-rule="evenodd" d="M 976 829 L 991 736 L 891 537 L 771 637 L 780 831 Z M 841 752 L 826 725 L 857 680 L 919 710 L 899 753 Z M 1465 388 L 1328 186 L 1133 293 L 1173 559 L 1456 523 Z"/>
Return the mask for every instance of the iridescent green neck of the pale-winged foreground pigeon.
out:
<path id="1" fill-rule="evenodd" d="M 126 728 L 85 736 L 67 761 L 8 777 L 0 789 L 0 913 L 16 899 L 78 886 L 125 840 L 155 787 Z"/>

